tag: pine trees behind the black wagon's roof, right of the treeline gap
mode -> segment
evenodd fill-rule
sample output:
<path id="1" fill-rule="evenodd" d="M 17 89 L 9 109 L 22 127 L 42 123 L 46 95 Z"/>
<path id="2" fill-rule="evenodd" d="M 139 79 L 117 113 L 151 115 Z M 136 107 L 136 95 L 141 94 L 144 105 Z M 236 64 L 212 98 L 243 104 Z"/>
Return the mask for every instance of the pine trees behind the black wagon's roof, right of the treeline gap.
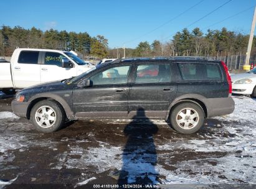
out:
<path id="1" fill-rule="evenodd" d="M 183 29 L 177 32 L 169 42 L 161 43 L 154 40 L 140 42 L 131 52 L 131 57 L 152 57 L 152 56 L 225 56 L 244 55 L 247 51 L 249 35 L 233 32 L 223 27 L 221 30 L 207 30 L 204 34 L 198 27 L 189 31 Z M 252 54 L 256 53 L 256 42 L 252 47 Z"/>

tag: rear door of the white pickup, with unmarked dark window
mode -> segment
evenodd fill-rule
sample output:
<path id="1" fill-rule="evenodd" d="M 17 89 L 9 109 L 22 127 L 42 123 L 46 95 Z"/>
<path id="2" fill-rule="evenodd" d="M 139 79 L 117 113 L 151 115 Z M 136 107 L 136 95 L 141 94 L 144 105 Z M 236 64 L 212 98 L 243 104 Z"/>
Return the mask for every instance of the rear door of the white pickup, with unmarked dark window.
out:
<path id="1" fill-rule="evenodd" d="M 22 50 L 11 62 L 14 88 L 26 88 L 40 83 L 39 51 Z"/>

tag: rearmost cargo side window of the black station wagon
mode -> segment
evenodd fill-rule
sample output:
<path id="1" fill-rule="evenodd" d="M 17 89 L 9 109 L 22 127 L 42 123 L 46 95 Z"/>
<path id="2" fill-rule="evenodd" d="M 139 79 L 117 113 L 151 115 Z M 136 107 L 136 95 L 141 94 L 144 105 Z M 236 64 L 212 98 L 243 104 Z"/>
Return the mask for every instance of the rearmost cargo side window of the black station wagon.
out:
<path id="1" fill-rule="evenodd" d="M 217 63 L 178 63 L 183 80 L 222 81 Z"/>

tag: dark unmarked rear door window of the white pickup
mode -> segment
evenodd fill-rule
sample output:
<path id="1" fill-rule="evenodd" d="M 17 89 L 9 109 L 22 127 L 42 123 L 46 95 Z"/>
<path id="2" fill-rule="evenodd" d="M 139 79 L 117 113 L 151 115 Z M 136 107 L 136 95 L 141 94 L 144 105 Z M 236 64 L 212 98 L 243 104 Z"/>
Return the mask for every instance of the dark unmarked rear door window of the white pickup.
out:
<path id="1" fill-rule="evenodd" d="M 21 51 L 19 54 L 18 63 L 37 64 L 39 51 Z"/>

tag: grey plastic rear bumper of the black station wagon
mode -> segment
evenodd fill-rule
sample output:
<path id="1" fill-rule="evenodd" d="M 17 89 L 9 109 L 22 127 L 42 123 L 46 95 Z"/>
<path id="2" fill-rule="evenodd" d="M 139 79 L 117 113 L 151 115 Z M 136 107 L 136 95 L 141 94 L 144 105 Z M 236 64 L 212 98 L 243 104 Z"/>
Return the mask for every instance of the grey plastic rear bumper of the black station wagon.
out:
<path id="1" fill-rule="evenodd" d="M 207 98 L 202 101 L 206 104 L 207 118 L 231 114 L 235 109 L 235 102 L 231 97 Z"/>

